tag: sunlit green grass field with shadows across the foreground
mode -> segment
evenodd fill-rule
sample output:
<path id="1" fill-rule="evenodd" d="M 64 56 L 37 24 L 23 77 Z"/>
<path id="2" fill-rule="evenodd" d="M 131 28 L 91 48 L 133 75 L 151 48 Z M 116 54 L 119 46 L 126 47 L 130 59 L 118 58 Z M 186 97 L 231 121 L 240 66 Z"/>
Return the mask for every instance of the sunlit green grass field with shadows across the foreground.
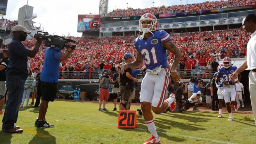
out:
<path id="1" fill-rule="evenodd" d="M 118 129 L 118 111 L 99 112 L 94 102 L 54 101 L 49 103 L 46 120 L 54 128 L 36 128 L 39 108 L 20 108 L 17 126 L 22 134 L 0 133 L 1 144 L 142 144 L 149 137 L 144 119 L 137 112 L 136 129 Z M 140 106 L 132 106 L 132 110 Z M 253 144 L 256 127 L 252 114 L 228 113 L 218 118 L 217 112 L 154 114 L 161 144 Z M 2 119 L 3 115 L 0 115 Z M 2 123 L 1 123 L 2 124 Z"/>

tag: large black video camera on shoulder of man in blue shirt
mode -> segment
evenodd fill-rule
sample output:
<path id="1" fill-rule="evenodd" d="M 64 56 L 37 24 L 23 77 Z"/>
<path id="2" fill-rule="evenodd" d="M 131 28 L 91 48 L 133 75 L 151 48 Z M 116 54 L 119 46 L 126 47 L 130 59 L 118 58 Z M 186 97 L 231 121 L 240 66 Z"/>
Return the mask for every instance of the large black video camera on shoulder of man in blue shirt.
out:
<path id="1" fill-rule="evenodd" d="M 76 41 L 57 35 L 49 35 L 48 32 L 37 31 L 37 33 L 34 35 L 34 38 L 42 38 L 44 40 L 45 46 L 47 47 L 59 47 L 60 49 L 69 47 L 73 50 L 76 48 L 75 44 L 68 44 L 69 42 L 75 43 Z"/>

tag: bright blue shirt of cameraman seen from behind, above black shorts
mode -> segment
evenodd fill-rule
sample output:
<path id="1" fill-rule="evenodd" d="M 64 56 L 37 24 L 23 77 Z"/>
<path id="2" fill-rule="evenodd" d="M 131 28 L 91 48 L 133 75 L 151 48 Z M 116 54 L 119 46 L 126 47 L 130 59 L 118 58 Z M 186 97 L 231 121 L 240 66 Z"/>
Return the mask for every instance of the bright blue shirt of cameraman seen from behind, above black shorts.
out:
<path id="1" fill-rule="evenodd" d="M 58 82 L 59 80 L 59 57 L 62 54 L 60 48 L 48 48 L 44 54 L 44 65 L 41 73 L 41 81 Z"/>

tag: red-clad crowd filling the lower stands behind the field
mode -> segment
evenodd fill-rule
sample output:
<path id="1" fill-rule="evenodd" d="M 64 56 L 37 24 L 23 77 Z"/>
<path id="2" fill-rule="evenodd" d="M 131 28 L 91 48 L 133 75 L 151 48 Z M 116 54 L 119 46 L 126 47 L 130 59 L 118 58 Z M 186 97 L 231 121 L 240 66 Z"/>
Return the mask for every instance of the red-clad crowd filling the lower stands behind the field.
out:
<path id="1" fill-rule="evenodd" d="M 136 50 L 133 48 L 135 37 L 132 36 L 69 38 L 77 42 L 77 48 L 65 62 L 62 62 L 60 71 L 99 71 L 101 70 L 101 63 L 104 64 L 104 69 L 114 70 L 115 65 L 123 62 L 122 57 L 125 53 L 136 55 Z M 231 58 L 244 57 L 246 55 L 244 44 L 248 42 L 250 35 L 246 34 L 243 29 L 231 29 L 177 33 L 171 34 L 171 38 L 176 46 L 181 49 L 181 61 L 186 62 L 190 55 L 197 59 L 200 58 L 200 55 L 207 58 L 208 54 L 215 57 L 217 53 L 221 54 L 220 58 L 225 56 Z M 26 47 L 32 49 L 35 42 L 35 39 L 31 39 L 23 43 Z M 46 49 L 44 44 L 41 47 L 37 55 L 30 59 L 31 68 L 38 66 L 39 71 L 42 69 Z M 174 54 L 171 53 L 168 57 L 169 62 L 173 57 Z"/>

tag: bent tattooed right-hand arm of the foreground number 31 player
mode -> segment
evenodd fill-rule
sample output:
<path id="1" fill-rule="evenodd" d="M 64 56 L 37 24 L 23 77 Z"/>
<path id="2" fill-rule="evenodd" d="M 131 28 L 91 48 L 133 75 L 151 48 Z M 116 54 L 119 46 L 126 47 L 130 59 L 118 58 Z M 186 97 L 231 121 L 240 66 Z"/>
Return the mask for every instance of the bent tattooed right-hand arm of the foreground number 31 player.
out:
<path id="1" fill-rule="evenodd" d="M 174 62 L 172 63 L 171 70 L 176 70 L 178 64 L 180 63 L 181 51 L 176 47 L 173 42 L 167 42 L 164 44 L 164 47 L 169 50 L 171 53 L 174 53 Z"/>

